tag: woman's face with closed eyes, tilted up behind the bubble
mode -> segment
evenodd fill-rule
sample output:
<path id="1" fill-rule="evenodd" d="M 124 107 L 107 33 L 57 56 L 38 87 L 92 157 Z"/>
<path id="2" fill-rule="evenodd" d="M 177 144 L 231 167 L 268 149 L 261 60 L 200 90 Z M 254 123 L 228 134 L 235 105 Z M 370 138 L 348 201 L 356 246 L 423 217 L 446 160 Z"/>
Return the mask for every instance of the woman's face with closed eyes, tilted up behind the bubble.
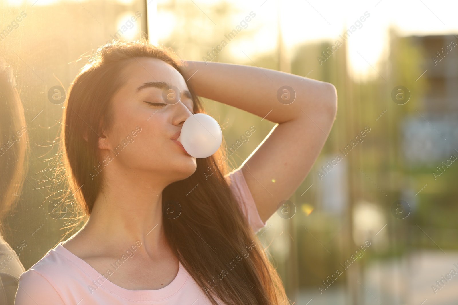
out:
<path id="1" fill-rule="evenodd" d="M 164 61 L 146 57 L 131 59 L 122 74 L 126 82 L 112 99 L 113 124 L 101 140 L 111 150 L 110 163 L 130 167 L 141 177 L 160 177 L 166 185 L 191 176 L 196 158 L 173 140 L 193 113 L 183 76 Z M 181 99 L 164 100 L 173 93 L 165 84 L 178 88 Z"/>

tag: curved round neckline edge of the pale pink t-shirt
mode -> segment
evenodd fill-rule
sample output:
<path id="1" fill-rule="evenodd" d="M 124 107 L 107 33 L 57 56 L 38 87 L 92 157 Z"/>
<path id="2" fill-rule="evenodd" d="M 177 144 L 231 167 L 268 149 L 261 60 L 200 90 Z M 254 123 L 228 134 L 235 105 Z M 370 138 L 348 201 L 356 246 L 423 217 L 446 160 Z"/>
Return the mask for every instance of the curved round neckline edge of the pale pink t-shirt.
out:
<path id="1" fill-rule="evenodd" d="M 95 289 L 92 292 L 96 293 L 98 289 L 104 289 L 111 294 L 116 296 L 131 299 L 136 301 L 160 301 L 167 298 L 170 298 L 174 294 L 176 294 L 180 289 L 183 288 L 186 281 L 188 280 L 189 273 L 183 267 L 181 262 L 178 262 L 178 273 L 175 278 L 165 287 L 155 290 L 130 290 L 122 288 L 109 280 L 109 278 L 105 278 L 102 274 L 100 274 L 97 270 L 95 270 L 91 265 L 89 265 L 86 261 L 77 257 L 73 254 L 70 250 L 65 248 L 62 245 L 63 241 L 55 246 L 54 250 L 56 253 L 64 256 L 70 262 L 76 265 L 77 268 L 82 270 L 86 275 L 91 277 L 91 280 L 95 280 L 100 284 L 94 284 L 92 287 Z"/>

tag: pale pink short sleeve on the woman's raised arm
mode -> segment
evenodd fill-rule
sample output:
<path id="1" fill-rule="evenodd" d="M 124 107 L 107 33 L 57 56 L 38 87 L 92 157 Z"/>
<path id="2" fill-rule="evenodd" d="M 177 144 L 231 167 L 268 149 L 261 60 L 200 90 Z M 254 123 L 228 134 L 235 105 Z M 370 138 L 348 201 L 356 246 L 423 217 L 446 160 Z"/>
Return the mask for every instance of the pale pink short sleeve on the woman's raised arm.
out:
<path id="1" fill-rule="evenodd" d="M 245 217 L 248 219 L 248 222 L 251 225 L 251 228 L 256 233 L 261 230 L 266 223 L 262 222 L 261 216 L 256 207 L 256 203 L 251 195 L 250 188 L 246 184 L 245 176 L 242 171 L 242 166 L 239 166 L 237 169 L 229 172 L 225 175 L 224 178 L 229 184 L 229 188 L 232 193 L 234 193 L 235 198 L 237 199 L 240 207 L 245 214 Z"/>

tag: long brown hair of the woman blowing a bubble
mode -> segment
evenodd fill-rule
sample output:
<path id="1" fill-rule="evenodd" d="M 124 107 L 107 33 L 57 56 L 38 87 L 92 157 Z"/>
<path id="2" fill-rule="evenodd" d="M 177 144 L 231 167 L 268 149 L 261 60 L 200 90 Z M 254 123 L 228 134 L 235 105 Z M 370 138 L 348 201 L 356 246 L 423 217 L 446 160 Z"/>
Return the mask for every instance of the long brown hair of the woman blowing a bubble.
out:
<path id="1" fill-rule="evenodd" d="M 61 156 L 65 176 L 83 214 L 90 215 L 103 187 L 103 174 L 91 177 L 98 165 L 98 134 L 112 122 L 110 100 L 123 84 L 120 71 L 126 59 L 161 59 L 182 75 L 181 61 L 170 49 L 146 40 L 105 44 L 91 57 L 68 90 L 61 129 Z M 205 113 L 190 84 L 194 113 Z M 100 123 L 101 122 L 101 123 Z M 85 135 L 87 140 L 84 139 Z M 167 240 L 182 265 L 207 293 L 214 305 L 273 305 L 288 302 L 278 273 L 245 219 L 224 178 L 226 160 L 221 148 L 214 155 L 197 159 L 197 169 L 188 178 L 171 183 L 163 191 L 163 210 L 171 201 L 180 203 L 181 214 L 170 219 L 163 214 Z M 207 179 L 208 168 L 213 174 Z M 189 191 L 196 187 L 191 194 Z M 78 216 L 79 215 L 79 216 Z M 256 246 L 257 245 L 257 246 Z"/>

